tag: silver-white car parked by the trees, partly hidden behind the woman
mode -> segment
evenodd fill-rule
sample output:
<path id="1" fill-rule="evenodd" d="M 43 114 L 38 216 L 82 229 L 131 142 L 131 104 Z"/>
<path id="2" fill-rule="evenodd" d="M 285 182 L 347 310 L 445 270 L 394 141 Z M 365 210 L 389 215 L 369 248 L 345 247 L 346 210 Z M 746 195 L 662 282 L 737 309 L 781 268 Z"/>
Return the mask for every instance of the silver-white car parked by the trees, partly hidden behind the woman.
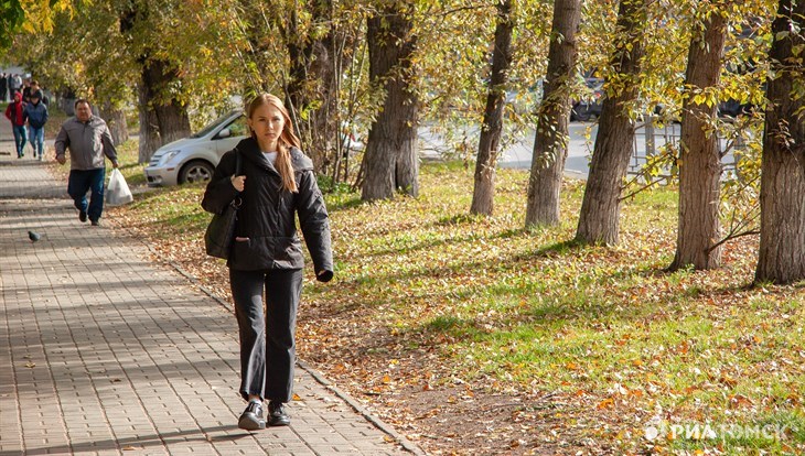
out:
<path id="1" fill-rule="evenodd" d="M 246 116 L 233 110 L 200 132 L 157 150 L 146 166 L 149 186 L 207 182 L 224 153 L 248 134 Z"/>

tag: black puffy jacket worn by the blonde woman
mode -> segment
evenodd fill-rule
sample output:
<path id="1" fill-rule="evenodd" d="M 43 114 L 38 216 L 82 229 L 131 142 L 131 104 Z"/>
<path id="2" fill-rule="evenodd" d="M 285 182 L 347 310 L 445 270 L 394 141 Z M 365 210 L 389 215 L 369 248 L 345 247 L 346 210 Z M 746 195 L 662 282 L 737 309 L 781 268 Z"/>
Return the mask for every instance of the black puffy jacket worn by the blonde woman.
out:
<path id="1" fill-rule="evenodd" d="M 240 175 L 246 175 L 239 195 L 230 182 L 236 153 L 240 154 Z M 262 155 L 257 142 L 247 138 L 221 158 L 204 192 L 202 207 L 221 214 L 235 197 L 243 200 L 235 236 L 249 239 L 233 241 L 227 260 L 229 268 L 242 271 L 301 269 L 304 259 L 297 236 L 294 214 L 298 215 L 316 279 L 326 282 L 333 276 L 333 253 L 324 197 L 315 182 L 313 162 L 292 148 L 291 164 L 299 193 L 281 189 L 279 173 Z"/>

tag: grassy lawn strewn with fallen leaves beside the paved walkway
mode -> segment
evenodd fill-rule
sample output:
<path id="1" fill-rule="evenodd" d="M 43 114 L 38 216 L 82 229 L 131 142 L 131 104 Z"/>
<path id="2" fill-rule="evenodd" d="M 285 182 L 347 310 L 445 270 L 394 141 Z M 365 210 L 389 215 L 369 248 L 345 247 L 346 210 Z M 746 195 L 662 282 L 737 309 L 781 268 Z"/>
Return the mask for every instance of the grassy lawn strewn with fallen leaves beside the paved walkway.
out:
<path id="1" fill-rule="evenodd" d="M 583 183 L 565 183 L 560 226 L 526 230 L 527 173 L 500 171 L 486 218 L 468 215 L 471 171 L 421 173 L 417 199 L 328 195 L 335 279 L 309 262 L 298 323 L 300 358 L 408 439 L 433 455 L 805 452 L 805 292 L 750 286 L 756 237 L 726 243 L 721 269 L 667 273 L 673 188 L 626 202 L 618 247 L 582 247 Z M 202 193 L 110 210 L 230 302 Z"/>

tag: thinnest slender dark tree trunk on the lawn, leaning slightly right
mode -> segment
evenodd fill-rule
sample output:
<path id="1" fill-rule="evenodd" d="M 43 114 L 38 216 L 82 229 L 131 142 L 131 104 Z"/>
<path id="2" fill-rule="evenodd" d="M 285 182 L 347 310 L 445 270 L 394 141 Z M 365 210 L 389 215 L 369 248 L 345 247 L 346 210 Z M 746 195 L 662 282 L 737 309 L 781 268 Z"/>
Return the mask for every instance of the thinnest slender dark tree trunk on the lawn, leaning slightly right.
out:
<path id="1" fill-rule="evenodd" d="M 503 108 L 506 102 L 508 67 L 512 63 L 512 0 L 497 3 L 495 48 L 492 53 L 492 77 L 486 96 L 486 110 L 477 143 L 475 161 L 475 187 L 472 193 L 471 214 L 492 215 L 495 205 L 495 167 L 503 131 Z"/>

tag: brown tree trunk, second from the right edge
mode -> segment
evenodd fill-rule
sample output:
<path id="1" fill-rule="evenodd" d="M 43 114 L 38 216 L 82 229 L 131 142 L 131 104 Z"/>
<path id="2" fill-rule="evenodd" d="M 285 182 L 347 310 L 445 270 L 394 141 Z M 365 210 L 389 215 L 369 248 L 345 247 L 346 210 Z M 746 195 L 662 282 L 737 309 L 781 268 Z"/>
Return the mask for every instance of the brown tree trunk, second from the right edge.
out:
<path id="1" fill-rule="evenodd" d="M 668 267 L 674 271 L 693 265 L 705 270 L 721 265 L 719 221 L 721 155 L 718 135 L 708 127 L 716 118 L 717 102 L 696 102 L 700 90 L 719 83 L 723 64 L 727 20 L 712 11 L 698 22 L 690 40 L 679 140 L 679 222 L 676 256 Z"/>

